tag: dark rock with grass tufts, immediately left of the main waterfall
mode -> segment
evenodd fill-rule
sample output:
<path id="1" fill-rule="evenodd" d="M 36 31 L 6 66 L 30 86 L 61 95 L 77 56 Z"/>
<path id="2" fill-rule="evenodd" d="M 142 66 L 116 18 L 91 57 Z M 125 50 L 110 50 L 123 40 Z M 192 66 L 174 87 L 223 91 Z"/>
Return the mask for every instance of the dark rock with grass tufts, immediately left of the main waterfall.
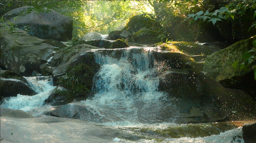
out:
<path id="1" fill-rule="evenodd" d="M 80 44 L 69 50 L 60 50 L 52 58 L 53 61 L 61 61 L 61 64 L 52 71 L 54 86 L 66 89 L 55 90 L 47 99 L 54 105 L 63 105 L 85 100 L 91 93 L 92 78 L 100 66 L 95 63 L 91 50 L 100 49 L 91 45 Z M 52 63 L 55 64 L 55 63 Z M 64 102 L 55 103 L 55 99 Z"/>

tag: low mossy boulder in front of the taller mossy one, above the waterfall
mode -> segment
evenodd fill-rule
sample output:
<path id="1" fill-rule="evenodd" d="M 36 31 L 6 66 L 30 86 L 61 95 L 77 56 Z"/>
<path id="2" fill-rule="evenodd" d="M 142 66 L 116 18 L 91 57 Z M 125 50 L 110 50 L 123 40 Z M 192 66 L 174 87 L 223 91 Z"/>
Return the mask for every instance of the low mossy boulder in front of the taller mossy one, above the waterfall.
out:
<path id="1" fill-rule="evenodd" d="M 152 31 L 144 29 L 136 32 L 132 36 L 132 38 L 136 43 L 139 44 L 155 44 L 161 41 L 160 39 L 158 39 L 158 36 L 162 33 L 162 31 Z"/>

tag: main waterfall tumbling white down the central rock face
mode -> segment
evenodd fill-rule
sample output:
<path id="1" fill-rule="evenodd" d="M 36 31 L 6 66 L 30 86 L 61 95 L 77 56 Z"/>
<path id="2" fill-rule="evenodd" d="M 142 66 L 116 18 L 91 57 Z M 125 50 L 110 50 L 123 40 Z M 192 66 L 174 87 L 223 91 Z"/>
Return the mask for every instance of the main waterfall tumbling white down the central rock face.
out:
<path id="1" fill-rule="evenodd" d="M 81 103 L 104 118 L 103 124 L 170 123 L 179 116 L 167 95 L 158 91 L 152 52 L 127 48 L 111 54 L 96 51 L 94 56 L 95 62 L 101 64 L 92 89 L 97 93 Z"/>

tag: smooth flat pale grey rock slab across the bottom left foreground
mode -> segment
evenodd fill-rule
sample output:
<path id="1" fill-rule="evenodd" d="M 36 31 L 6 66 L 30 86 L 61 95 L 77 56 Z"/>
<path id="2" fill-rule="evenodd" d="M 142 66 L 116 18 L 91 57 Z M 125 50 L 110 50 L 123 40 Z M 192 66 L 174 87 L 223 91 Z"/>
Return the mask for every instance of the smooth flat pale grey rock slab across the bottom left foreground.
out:
<path id="1" fill-rule="evenodd" d="M 113 143 L 120 131 L 86 121 L 42 116 L 1 117 L 1 142 L 19 143 Z"/>

